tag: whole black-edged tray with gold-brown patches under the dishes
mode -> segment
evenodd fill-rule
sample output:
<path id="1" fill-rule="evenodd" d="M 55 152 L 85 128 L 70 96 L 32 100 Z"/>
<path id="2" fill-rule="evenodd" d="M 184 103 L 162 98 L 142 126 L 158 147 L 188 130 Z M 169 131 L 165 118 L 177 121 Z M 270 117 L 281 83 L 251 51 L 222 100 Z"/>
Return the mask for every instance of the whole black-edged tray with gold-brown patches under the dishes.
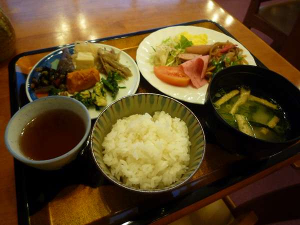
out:
<path id="1" fill-rule="evenodd" d="M 221 25 L 197 20 L 176 25 L 214 29 L 233 37 Z M 163 28 L 163 27 L 159 27 Z M 133 59 L 141 40 L 159 29 L 111 36 L 95 40 L 126 51 Z M 233 37 L 234 38 L 234 37 Z M 28 103 L 25 80 L 31 67 L 44 55 L 62 46 L 28 51 L 9 63 L 10 107 L 13 115 Z M 253 56 L 258 66 L 264 65 Z M 137 92 L 160 93 L 142 76 Z M 14 160 L 18 222 L 20 224 L 147 224 L 227 186 L 255 174 L 297 151 L 285 149 L 263 161 L 250 161 L 230 154 L 216 144 L 205 128 L 204 105 L 183 102 L 199 118 L 206 135 L 204 160 L 188 183 L 168 193 L 137 194 L 109 183 L 97 170 L 84 149 L 71 164 L 57 171 L 42 171 Z"/>

